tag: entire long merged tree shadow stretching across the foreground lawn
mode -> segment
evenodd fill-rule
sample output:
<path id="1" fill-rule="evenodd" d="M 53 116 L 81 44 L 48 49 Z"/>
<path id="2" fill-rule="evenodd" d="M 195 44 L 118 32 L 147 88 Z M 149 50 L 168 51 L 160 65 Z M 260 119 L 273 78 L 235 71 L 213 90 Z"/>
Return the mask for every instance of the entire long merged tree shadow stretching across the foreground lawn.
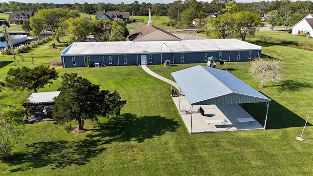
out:
<path id="1" fill-rule="evenodd" d="M 52 169 L 65 168 L 70 165 L 86 165 L 90 159 L 101 154 L 106 148 L 103 144 L 145 139 L 174 132 L 179 124 L 173 119 L 160 116 L 137 117 L 134 114 L 122 114 L 111 118 L 109 122 L 95 124 L 84 140 L 48 141 L 26 145 L 26 150 L 15 153 L 7 163 L 19 166 L 10 172 L 24 171 L 30 168 L 51 166 Z"/>

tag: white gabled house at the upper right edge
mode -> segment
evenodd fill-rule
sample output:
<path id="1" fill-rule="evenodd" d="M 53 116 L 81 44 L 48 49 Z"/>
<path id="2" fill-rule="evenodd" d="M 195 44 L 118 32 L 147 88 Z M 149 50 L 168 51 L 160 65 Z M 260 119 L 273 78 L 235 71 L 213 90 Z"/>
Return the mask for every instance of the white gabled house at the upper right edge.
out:
<path id="1" fill-rule="evenodd" d="M 299 35 L 300 32 L 306 33 L 308 37 L 313 37 L 313 14 L 307 15 L 292 26 L 292 35 Z"/>

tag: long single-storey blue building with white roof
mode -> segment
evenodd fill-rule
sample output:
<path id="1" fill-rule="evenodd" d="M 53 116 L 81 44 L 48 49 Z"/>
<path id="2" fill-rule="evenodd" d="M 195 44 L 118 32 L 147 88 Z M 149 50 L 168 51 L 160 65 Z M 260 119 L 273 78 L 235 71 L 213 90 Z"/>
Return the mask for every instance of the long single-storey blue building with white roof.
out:
<path id="1" fill-rule="evenodd" d="M 206 63 L 214 56 L 219 61 L 249 61 L 261 55 L 262 47 L 237 39 L 208 39 L 153 42 L 72 43 L 61 52 L 63 67 L 83 67 L 88 62 L 100 66 Z"/>

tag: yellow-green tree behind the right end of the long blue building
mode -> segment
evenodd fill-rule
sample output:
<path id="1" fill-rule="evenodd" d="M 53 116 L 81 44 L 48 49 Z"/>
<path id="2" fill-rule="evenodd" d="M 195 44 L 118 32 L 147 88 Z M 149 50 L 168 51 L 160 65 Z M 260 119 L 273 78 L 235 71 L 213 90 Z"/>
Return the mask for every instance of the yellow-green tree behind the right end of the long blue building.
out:
<path id="1" fill-rule="evenodd" d="M 254 35 L 260 29 L 261 17 L 249 11 L 240 11 L 235 14 L 235 30 L 240 34 L 241 39 L 245 41 L 246 35 Z"/>

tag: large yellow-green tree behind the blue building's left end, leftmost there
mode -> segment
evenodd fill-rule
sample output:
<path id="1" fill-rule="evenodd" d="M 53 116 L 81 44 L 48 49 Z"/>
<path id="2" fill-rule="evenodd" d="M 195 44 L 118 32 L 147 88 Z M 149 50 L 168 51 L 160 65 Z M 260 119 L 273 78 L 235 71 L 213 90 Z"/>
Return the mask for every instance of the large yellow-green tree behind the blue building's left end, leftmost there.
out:
<path id="1" fill-rule="evenodd" d="M 30 18 L 30 26 L 32 28 L 32 35 L 38 36 L 43 30 L 51 31 L 55 36 L 57 42 L 60 42 L 61 37 L 65 31 L 60 28 L 61 22 L 73 17 L 78 17 L 79 14 L 76 12 L 69 12 L 68 9 L 53 8 L 39 10 Z"/>

